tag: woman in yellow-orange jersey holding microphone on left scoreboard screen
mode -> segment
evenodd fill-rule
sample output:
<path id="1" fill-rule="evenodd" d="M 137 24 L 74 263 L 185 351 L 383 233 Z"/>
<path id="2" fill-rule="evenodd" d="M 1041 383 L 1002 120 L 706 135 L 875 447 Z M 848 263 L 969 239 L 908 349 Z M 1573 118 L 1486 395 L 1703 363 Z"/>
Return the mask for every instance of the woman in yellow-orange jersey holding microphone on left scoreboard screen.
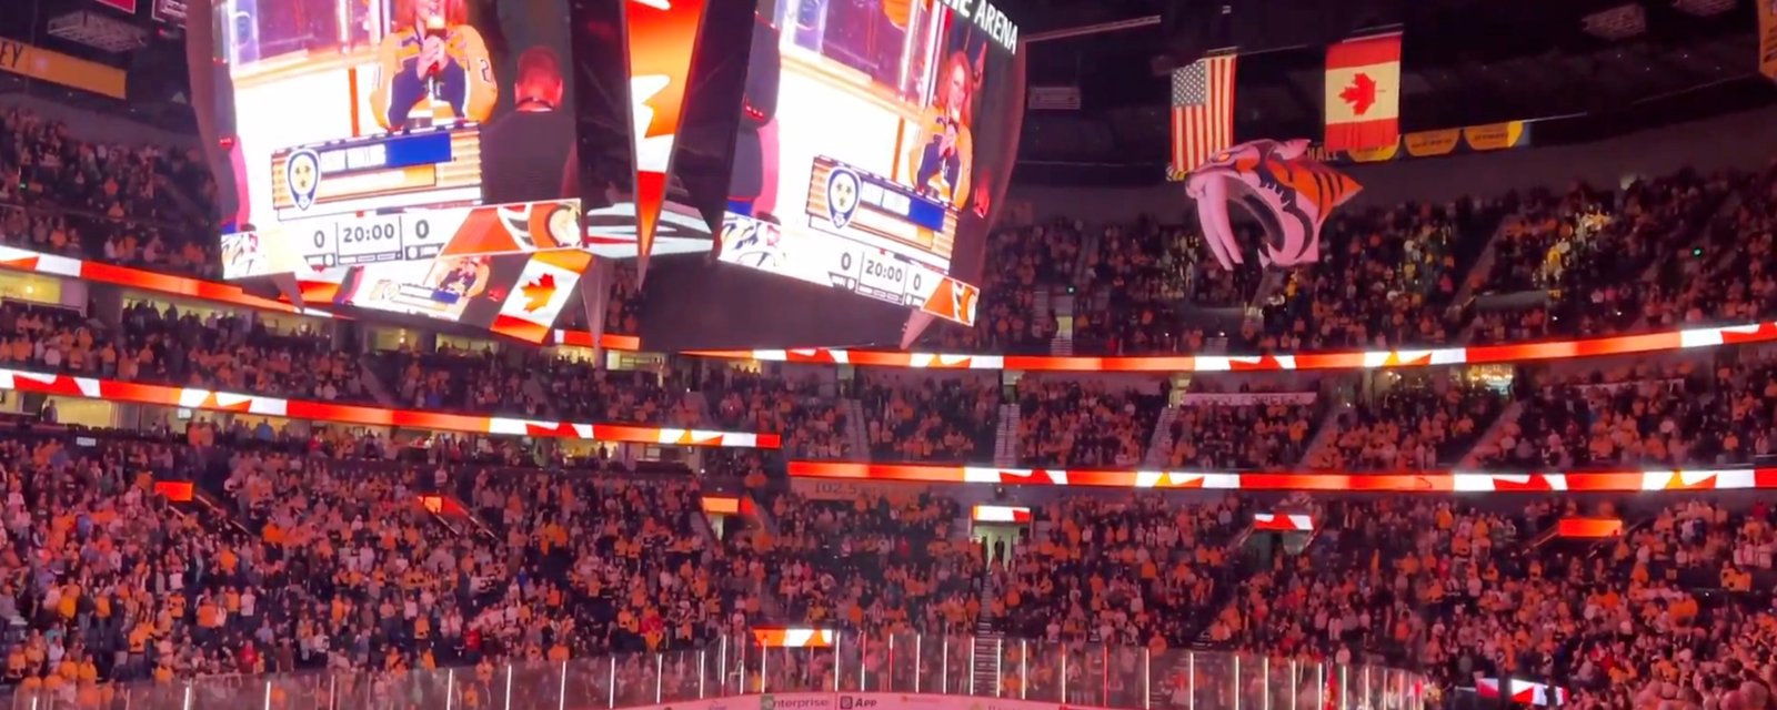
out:
<path id="1" fill-rule="evenodd" d="M 391 16 L 370 94 L 377 124 L 398 131 L 432 121 L 487 121 L 499 83 L 487 43 L 469 27 L 467 0 L 394 0 Z"/>

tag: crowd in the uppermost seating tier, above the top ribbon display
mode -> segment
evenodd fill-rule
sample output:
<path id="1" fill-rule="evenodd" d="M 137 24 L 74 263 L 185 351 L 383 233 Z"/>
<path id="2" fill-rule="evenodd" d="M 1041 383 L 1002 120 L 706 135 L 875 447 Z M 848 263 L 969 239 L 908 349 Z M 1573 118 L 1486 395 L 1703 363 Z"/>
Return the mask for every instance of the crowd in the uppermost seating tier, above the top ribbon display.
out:
<path id="1" fill-rule="evenodd" d="M 0 240 L 213 279 L 215 185 L 195 151 L 75 133 L 25 108 L 0 112 Z M 979 325 L 933 327 L 924 346 L 1045 351 L 1061 332 L 1061 296 L 1073 298 L 1075 346 L 1109 353 L 1199 351 L 1223 335 L 1237 350 L 1288 351 L 1438 344 L 1462 330 L 1477 343 L 1503 343 L 1757 320 L 1770 311 L 1770 279 L 1759 266 L 1770 185 L 1772 170 L 1679 172 L 1621 192 L 1580 185 L 1487 204 L 1347 209 L 1324 229 L 1322 261 L 1271 286 L 1256 268 L 1228 272 L 1205 259 L 1191 225 L 1136 218 L 1006 227 L 990 238 Z M 1470 275 L 1507 209 L 1514 215 L 1494 241 L 1491 270 Z M 1256 243 L 1256 234 L 1242 243 Z M 617 270 L 604 325 L 634 334 L 641 293 L 631 263 Z M 1477 295 L 1544 296 L 1452 311 L 1470 305 L 1452 304 L 1464 279 Z M 1244 328 L 1210 323 L 1180 316 L 1183 302 L 1258 307 L 1263 318 Z M 570 312 L 567 325 L 581 327 L 578 318 Z"/>

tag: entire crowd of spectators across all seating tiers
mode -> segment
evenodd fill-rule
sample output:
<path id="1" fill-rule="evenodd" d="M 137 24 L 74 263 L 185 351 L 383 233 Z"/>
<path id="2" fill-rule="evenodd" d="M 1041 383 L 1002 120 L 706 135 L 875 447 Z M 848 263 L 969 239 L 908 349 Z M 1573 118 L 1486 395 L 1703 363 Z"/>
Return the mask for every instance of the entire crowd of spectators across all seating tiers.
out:
<path id="1" fill-rule="evenodd" d="M 69 126 L 0 110 L 0 241 L 213 279 L 213 190 L 188 151 L 80 140 Z M 1464 328 L 1503 343 L 1761 320 L 1777 309 L 1765 266 L 1773 220 L 1773 170 L 1409 204 L 1338 215 L 1324 259 L 1274 279 L 1221 270 L 1192 229 L 1146 218 L 1013 227 L 990 243 L 981 325 L 936 327 L 928 344 L 1047 351 L 1061 332 L 1059 296 L 1073 300 L 1077 344 L 1109 353 L 1203 350 L 1210 335 L 1180 316 L 1183 302 L 1258 305 L 1262 318 L 1237 328 L 1233 346 L 1278 351 L 1439 344 Z M 1494 225 L 1491 270 L 1468 273 Z M 1468 307 L 1454 302 L 1464 286 L 1542 296 Z M 606 328 L 636 332 L 638 298 L 624 264 Z M 995 378 L 878 373 L 842 392 L 821 376 L 720 367 L 688 398 L 681 375 L 515 348 L 373 360 L 402 406 L 714 422 L 780 433 L 798 458 L 981 462 L 1009 403 L 1018 463 L 1128 469 L 1148 458 L 1169 394 L 1043 375 L 1008 398 Z M 0 364 L 379 401 L 359 359 L 329 335 L 146 302 L 116 325 L 4 302 Z M 1478 467 L 1749 465 L 1777 449 L 1777 366 L 1759 351 L 1519 376 L 1518 414 L 1473 451 Z M 862 421 L 842 394 L 862 405 Z M 1477 385 L 1397 382 L 1331 417 L 1336 430 L 1319 451 L 1306 447 L 1320 405 L 1187 403 L 1159 437 L 1169 442 L 1159 458 L 1205 469 L 1448 467 L 1507 403 Z M 1121 650 L 1187 644 L 1383 660 L 1439 685 L 1542 678 L 1576 690 L 1582 708 L 1763 708 L 1777 682 L 1777 511 L 1756 497 L 1295 499 L 1285 506 L 1311 511 L 1319 529 L 1269 547 L 1251 532 L 1256 499 L 1068 495 L 1038 506 L 1011 545 L 983 547 L 942 492 L 816 497 L 771 488 L 757 454 L 729 454 L 711 456 L 713 477 L 741 477 L 768 522 L 716 540 L 695 477 L 579 470 L 560 456 L 526 460 L 510 442 L 204 419 L 181 437 L 85 438 L 0 437 L 0 687 L 80 706 L 108 705 L 126 682 L 322 669 L 348 680 L 327 692 L 389 705 L 389 678 L 462 666 L 473 673 L 448 690 L 474 708 L 492 701 L 505 662 L 697 648 L 768 618 L 1104 643 L 1120 650 L 1098 667 L 1107 683 L 1132 659 Z M 403 463 L 414 451 L 423 465 Z M 188 481 L 215 504 L 172 504 L 156 481 Z M 1551 538 L 1555 520 L 1587 513 L 1621 515 L 1628 532 Z M 618 689 L 588 673 L 569 692 L 652 703 L 641 692 L 650 680 L 697 673 L 638 659 L 617 669 L 631 680 Z M 775 673 L 837 687 L 832 666 L 814 655 L 801 664 Z M 1013 667 L 1002 682 L 1027 689 L 1082 673 Z"/>

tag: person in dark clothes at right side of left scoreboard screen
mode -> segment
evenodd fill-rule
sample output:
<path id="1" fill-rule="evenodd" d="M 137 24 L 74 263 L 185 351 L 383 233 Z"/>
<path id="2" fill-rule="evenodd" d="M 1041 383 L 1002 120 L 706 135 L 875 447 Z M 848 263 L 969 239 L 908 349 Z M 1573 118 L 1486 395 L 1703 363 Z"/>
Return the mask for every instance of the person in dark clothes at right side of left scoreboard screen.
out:
<path id="1" fill-rule="evenodd" d="M 512 112 L 482 131 L 482 202 L 510 204 L 563 195 L 574 117 L 562 110 L 562 60 L 546 46 L 519 57 Z"/>

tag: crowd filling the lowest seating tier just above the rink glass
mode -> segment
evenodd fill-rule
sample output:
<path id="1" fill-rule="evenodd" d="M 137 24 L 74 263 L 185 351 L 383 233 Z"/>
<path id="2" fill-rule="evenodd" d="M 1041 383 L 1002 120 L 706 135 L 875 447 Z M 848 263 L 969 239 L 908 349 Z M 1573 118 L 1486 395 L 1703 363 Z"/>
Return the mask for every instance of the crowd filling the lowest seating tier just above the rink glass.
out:
<path id="1" fill-rule="evenodd" d="M 1756 499 L 1075 495 L 1036 506 L 1009 545 L 981 545 L 942 492 L 771 492 L 753 458 L 739 469 L 769 524 L 716 540 L 688 477 L 270 444 L 0 442 L 0 618 L 21 628 L 5 685 L 101 701 L 123 682 L 331 669 L 379 699 L 409 669 L 464 666 L 455 692 L 490 698 L 506 662 L 695 648 L 773 618 L 1045 641 L 1000 678 L 1032 692 L 1077 680 L 1056 648 L 1104 643 L 1383 662 L 1439 687 L 1510 674 L 1606 708 L 1756 694 L 1741 683 L 1765 674 L 1757 648 L 1777 628 L 1777 511 Z M 217 508 L 167 502 L 153 488 L 165 479 L 195 481 Z M 428 509 L 432 493 L 450 502 Z M 1279 508 L 1317 532 L 1256 545 L 1253 513 Z M 1622 517 L 1628 534 L 1551 538 L 1573 515 Z M 828 687 L 832 659 L 803 662 L 773 682 Z M 652 690 L 650 664 L 618 674 L 622 701 L 650 701 L 624 690 Z M 610 692 L 602 673 L 567 683 Z"/>

